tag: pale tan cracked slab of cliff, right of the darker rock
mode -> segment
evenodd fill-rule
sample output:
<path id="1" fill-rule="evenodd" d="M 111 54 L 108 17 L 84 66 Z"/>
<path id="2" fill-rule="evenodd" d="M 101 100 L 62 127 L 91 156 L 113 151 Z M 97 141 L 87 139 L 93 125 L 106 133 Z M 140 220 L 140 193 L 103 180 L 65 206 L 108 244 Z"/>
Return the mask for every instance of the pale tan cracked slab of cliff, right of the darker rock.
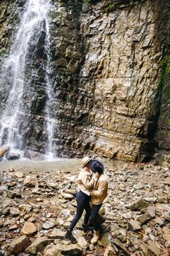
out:
<path id="1" fill-rule="evenodd" d="M 88 45 L 82 86 L 93 101 L 85 132 L 96 136 L 99 154 L 135 161 L 143 147 L 152 151 L 154 124 L 147 116 L 159 82 L 158 3 L 123 5 L 108 14 L 104 4 L 94 5 L 91 15 L 82 13 Z"/>

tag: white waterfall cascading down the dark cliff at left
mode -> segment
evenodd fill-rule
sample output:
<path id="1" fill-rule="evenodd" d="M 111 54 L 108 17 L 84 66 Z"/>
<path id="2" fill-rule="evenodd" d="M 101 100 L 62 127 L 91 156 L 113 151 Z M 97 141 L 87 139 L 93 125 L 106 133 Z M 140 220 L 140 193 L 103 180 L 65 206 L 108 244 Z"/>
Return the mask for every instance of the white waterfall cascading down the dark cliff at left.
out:
<path id="1" fill-rule="evenodd" d="M 50 0 L 28 0 L 26 8 L 21 18 L 21 23 L 15 35 L 9 56 L 4 60 L 0 72 L 0 87 L 7 85 L 6 92 L 9 94 L 4 99 L 4 112 L 0 118 L 0 148 L 9 145 L 10 148 L 24 148 L 23 141 L 26 140 L 26 131 L 28 122 L 31 120 L 31 101 L 29 102 L 28 93 L 34 98 L 34 91 L 28 89 L 28 81 L 26 80 L 26 72 L 28 69 L 28 61 L 34 55 L 36 42 L 39 42 L 39 31 L 45 32 L 44 61 L 45 75 L 45 94 L 47 102 L 45 104 L 45 123 L 47 130 L 46 153 L 50 157 L 53 155 L 53 87 L 51 79 L 50 67 L 50 23 L 49 14 Z M 33 75 L 31 75 L 33 76 Z M 36 76 L 36 75 L 34 75 Z M 27 86 L 26 86 L 27 84 Z M 29 78 L 31 84 L 31 78 Z M 4 97 L 5 98 L 5 97 Z"/>

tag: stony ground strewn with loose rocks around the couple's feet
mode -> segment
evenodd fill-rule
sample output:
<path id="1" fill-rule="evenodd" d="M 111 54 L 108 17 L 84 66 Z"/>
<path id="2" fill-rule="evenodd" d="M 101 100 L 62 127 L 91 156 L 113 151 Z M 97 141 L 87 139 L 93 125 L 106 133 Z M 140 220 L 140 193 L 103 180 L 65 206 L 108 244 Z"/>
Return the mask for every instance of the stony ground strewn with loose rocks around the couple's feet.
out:
<path id="1" fill-rule="evenodd" d="M 106 167 L 109 195 L 96 246 L 91 234 L 74 230 L 77 244 L 64 238 L 76 209 L 79 170 L 37 174 L 0 173 L 0 255 L 170 255 L 170 165 Z"/>

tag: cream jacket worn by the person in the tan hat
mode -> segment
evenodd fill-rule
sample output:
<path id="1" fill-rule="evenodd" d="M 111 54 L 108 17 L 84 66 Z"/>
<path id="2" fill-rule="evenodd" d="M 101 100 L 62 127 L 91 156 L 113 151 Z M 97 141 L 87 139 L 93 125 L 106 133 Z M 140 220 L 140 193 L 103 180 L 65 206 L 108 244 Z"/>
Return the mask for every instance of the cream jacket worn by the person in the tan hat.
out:
<path id="1" fill-rule="evenodd" d="M 96 178 L 92 176 L 92 172 L 87 167 L 82 168 L 77 178 L 79 189 L 86 195 L 90 195 L 90 191 L 93 188 Z"/>

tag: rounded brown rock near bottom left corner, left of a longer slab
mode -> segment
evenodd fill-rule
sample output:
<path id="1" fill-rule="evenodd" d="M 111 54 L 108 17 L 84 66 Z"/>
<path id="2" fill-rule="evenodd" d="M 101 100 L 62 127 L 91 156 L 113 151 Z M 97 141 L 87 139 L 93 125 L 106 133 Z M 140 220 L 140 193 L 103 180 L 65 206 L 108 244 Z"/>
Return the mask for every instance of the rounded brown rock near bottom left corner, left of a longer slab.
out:
<path id="1" fill-rule="evenodd" d="M 18 255 L 18 253 L 23 252 L 29 244 L 30 240 L 27 236 L 15 238 L 10 245 L 12 254 Z"/>

